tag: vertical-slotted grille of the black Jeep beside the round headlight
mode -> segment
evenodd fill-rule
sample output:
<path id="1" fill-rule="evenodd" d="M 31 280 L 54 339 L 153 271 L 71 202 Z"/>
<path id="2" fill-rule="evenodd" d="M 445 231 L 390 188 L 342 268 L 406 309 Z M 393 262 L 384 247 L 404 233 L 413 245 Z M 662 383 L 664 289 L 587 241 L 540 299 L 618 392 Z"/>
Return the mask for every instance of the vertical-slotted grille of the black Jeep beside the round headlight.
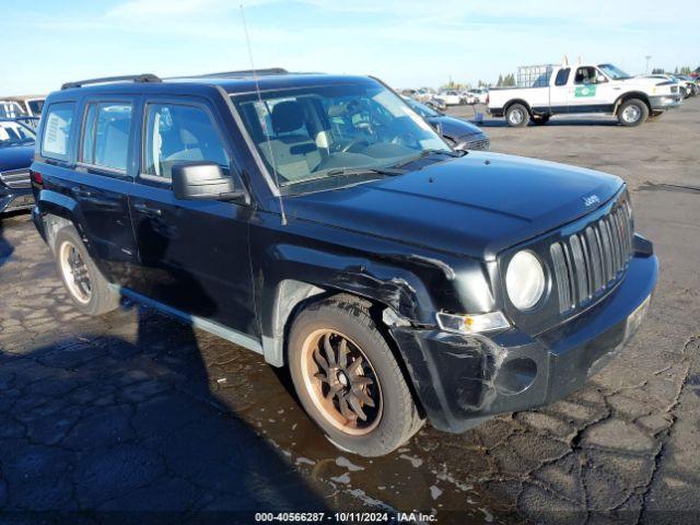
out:
<path id="1" fill-rule="evenodd" d="M 559 312 L 586 303 L 614 283 L 632 255 L 632 213 L 629 202 L 585 230 L 550 246 Z"/>

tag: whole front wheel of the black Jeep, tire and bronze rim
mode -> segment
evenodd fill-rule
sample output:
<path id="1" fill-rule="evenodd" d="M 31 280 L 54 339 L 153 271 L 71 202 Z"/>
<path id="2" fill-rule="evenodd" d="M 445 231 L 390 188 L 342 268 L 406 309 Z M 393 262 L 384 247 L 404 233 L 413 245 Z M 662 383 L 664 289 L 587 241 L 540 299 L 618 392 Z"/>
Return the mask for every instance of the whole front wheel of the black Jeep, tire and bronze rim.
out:
<path id="1" fill-rule="evenodd" d="M 423 420 L 368 304 L 339 295 L 302 311 L 290 331 L 290 373 L 299 399 L 337 447 L 382 456 Z"/>

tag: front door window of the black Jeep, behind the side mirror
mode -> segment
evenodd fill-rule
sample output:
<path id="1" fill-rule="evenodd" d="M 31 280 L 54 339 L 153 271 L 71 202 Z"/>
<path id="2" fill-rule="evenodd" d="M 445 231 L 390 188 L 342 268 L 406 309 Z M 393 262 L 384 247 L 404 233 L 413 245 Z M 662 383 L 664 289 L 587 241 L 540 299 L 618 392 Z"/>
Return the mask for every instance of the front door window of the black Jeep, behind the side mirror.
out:
<path id="1" fill-rule="evenodd" d="M 182 162 L 213 162 L 224 174 L 231 160 L 209 114 L 197 106 L 149 104 L 145 112 L 145 175 L 172 178 L 173 165 Z"/>

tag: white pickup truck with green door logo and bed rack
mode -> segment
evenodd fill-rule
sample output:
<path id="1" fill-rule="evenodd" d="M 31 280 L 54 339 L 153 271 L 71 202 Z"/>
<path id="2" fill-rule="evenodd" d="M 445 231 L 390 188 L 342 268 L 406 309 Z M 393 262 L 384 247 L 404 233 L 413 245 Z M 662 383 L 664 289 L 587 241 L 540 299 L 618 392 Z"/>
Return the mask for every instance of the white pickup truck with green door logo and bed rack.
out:
<path id="1" fill-rule="evenodd" d="M 681 100 L 677 83 L 632 78 L 611 63 L 521 68 L 518 85 L 491 89 L 488 103 L 491 115 L 505 116 L 515 127 L 584 113 L 615 115 L 622 126 L 639 126 Z"/>

